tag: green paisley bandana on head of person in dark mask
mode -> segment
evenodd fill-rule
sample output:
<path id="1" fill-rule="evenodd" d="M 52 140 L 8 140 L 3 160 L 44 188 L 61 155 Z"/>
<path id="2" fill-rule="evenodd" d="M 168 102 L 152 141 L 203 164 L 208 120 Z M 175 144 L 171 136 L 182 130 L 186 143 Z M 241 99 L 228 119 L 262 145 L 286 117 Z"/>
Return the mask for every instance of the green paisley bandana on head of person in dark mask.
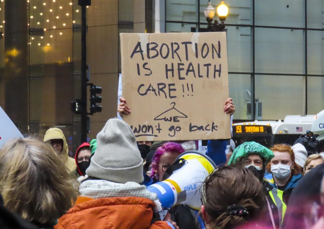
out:
<path id="1" fill-rule="evenodd" d="M 256 142 L 245 142 L 239 145 L 233 152 L 231 158 L 227 165 L 233 165 L 241 157 L 248 157 L 249 155 L 259 155 L 264 159 L 264 166 L 266 166 L 269 161 L 274 157 L 272 151 L 263 145 Z"/>

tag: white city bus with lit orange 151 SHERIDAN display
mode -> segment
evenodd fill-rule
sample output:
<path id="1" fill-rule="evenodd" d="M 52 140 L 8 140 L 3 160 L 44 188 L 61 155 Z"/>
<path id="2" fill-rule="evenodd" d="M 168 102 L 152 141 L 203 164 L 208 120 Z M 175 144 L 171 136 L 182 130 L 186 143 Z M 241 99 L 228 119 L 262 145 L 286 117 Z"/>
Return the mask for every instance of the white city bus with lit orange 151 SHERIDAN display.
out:
<path id="1" fill-rule="evenodd" d="M 270 148 L 274 144 L 293 145 L 297 138 L 310 131 L 316 115 L 287 115 L 278 121 L 249 121 L 233 124 L 233 141 L 236 147 L 254 141 Z"/>

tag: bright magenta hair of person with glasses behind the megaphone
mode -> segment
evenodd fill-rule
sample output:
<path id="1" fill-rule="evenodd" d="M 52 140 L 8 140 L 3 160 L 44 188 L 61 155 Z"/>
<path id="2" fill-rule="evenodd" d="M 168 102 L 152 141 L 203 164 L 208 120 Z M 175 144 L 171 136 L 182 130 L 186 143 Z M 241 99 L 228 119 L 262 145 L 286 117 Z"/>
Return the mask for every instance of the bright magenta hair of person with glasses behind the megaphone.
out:
<path id="1" fill-rule="evenodd" d="M 167 142 L 164 143 L 162 146 L 160 146 L 159 148 L 157 148 L 153 159 L 152 159 L 152 173 L 151 173 L 151 178 L 157 178 L 157 174 L 155 174 L 154 170 L 158 169 L 158 165 L 160 163 L 160 159 L 161 156 L 166 153 L 166 152 L 172 152 L 172 153 L 177 153 L 177 154 L 181 154 L 184 152 L 184 149 L 182 148 L 182 146 L 178 143 L 174 143 L 174 142 Z"/>

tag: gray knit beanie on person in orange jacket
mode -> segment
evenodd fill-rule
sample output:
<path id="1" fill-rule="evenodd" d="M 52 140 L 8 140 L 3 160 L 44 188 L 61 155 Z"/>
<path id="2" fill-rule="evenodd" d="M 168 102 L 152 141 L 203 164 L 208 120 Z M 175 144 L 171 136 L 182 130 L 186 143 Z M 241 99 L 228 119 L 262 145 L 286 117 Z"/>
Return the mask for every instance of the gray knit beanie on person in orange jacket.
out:
<path id="1" fill-rule="evenodd" d="M 126 122 L 119 119 L 106 122 L 97 134 L 97 150 L 86 173 L 89 177 L 117 183 L 143 182 L 143 159 Z"/>

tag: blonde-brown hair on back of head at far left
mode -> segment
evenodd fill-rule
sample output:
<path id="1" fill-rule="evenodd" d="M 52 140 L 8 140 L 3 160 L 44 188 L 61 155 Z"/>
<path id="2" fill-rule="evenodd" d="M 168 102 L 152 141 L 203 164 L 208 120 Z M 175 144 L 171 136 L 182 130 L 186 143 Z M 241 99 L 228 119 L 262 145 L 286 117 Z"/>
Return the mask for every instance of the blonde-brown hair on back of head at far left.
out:
<path id="1" fill-rule="evenodd" d="M 0 150 L 4 206 L 27 221 L 50 223 L 72 206 L 77 180 L 52 147 L 34 138 L 14 139 Z"/>

